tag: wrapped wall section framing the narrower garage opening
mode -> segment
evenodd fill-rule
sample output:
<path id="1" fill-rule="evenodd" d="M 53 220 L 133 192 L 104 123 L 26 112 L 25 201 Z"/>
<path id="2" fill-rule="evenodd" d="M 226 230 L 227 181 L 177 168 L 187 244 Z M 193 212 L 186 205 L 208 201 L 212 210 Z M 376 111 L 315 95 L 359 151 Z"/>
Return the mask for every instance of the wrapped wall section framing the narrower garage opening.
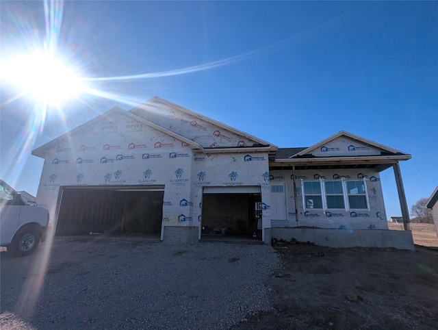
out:
<path id="1" fill-rule="evenodd" d="M 194 153 L 193 162 L 193 217 L 198 224 L 202 221 L 203 187 L 260 186 L 261 201 L 269 205 L 268 153 Z M 264 237 L 264 229 L 270 227 L 269 207 L 263 208 L 262 227 Z"/>

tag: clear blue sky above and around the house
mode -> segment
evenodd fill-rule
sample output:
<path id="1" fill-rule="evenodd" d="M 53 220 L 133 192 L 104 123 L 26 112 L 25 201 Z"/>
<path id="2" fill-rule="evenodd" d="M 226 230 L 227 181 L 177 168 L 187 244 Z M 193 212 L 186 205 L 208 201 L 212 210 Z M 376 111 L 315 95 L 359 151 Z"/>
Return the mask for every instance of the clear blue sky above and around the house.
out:
<path id="1" fill-rule="evenodd" d="M 0 9 L 2 60 L 42 47 L 42 2 L 1 1 Z M 33 130 L 27 121 L 40 107 L 10 101 L 16 91 L 1 81 L 1 177 L 17 190 L 38 189 L 43 161 L 32 149 L 155 95 L 279 147 L 345 130 L 410 153 L 400 164 L 409 207 L 438 184 L 436 1 L 69 1 L 62 9 L 57 53 L 77 74 L 155 75 L 94 81 L 114 98 L 48 107 Z M 400 216 L 394 172 L 381 178 L 387 215 Z"/>

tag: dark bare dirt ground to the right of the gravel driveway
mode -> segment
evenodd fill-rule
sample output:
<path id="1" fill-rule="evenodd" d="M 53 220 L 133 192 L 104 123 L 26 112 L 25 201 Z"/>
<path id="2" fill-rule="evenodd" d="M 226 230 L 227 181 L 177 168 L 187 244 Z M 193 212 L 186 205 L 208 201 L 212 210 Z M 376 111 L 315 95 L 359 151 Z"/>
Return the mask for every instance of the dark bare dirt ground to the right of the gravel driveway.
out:
<path id="1" fill-rule="evenodd" d="M 274 310 L 233 329 L 438 329 L 435 227 L 413 224 L 413 236 L 415 251 L 276 242 Z"/>

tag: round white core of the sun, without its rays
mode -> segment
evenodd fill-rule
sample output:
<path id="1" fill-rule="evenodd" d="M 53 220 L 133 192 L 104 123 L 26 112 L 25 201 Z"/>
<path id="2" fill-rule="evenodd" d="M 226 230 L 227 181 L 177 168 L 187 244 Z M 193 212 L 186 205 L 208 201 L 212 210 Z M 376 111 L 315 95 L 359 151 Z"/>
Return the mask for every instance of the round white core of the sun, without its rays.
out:
<path id="1" fill-rule="evenodd" d="M 43 104 L 60 105 L 83 89 L 81 80 L 55 55 L 44 52 L 1 62 L 1 78 Z"/>

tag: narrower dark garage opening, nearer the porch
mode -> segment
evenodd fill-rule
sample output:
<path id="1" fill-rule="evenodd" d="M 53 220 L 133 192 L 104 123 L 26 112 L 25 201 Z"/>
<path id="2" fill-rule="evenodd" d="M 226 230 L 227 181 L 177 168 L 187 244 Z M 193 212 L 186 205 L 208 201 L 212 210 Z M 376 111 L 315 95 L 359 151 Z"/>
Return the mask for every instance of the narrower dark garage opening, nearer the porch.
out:
<path id="1" fill-rule="evenodd" d="M 201 226 L 201 238 L 261 240 L 260 187 L 204 187 Z"/>

